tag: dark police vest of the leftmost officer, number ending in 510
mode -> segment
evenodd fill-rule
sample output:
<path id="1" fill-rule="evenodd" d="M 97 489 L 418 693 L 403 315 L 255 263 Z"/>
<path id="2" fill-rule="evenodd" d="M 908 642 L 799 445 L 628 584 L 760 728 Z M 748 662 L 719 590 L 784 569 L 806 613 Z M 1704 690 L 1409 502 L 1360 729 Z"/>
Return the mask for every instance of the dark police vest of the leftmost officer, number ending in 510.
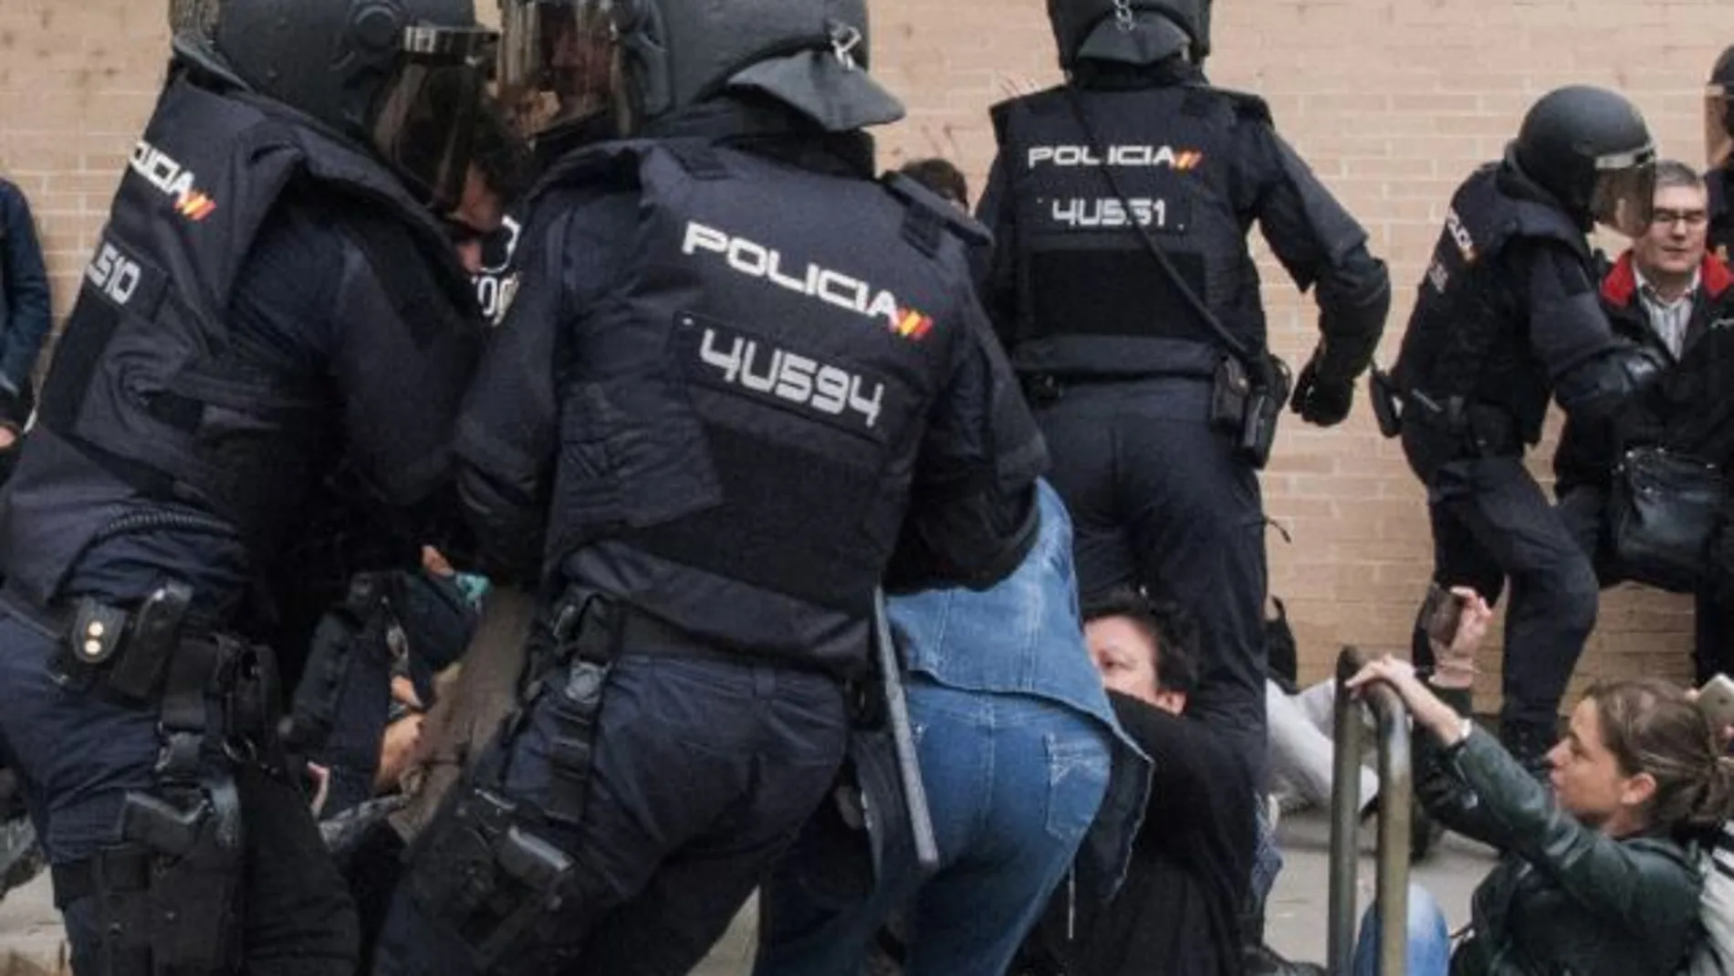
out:
<path id="1" fill-rule="evenodd" d="M 258 555 L 342 456 L 329 442 L 340 404 L 323 385 L 231 357 L 236 279 L 291 182 L 347 199 L 343 227 L 369 265 L 404 277 L 352 302 L 345 326 L 475 333 L 439 224 L 380 163 L 291 109 L 172 80 L 85 269 L 0 513 L 9 582 L 29 598 L 52 600 L 95 534 L 140 501 L 210 513 Z M 369 241 L 368 227 L 387 232 Z M 333 246 L 350 239 L 336 234 Z"/>

